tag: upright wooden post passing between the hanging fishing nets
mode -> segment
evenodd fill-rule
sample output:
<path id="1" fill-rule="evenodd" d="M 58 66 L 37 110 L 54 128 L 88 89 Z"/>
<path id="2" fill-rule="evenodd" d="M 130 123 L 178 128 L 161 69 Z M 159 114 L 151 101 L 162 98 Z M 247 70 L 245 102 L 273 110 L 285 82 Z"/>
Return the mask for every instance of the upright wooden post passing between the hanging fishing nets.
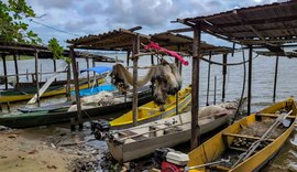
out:
<path id="1" fill-rule="evenodd" d="M 140 53 L 140 35 L 133 36 L 133 125 L 138 126 L 138 57 L 136 54 Z"/>

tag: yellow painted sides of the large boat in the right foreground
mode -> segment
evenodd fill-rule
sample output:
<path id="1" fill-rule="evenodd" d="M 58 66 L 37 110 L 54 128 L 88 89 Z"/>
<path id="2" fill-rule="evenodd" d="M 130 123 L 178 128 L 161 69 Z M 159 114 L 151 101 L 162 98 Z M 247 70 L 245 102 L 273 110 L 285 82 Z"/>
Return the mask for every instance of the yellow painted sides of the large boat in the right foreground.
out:
<path id="1" fill-rule="evenodd" d="M 290 115 L 292 122 L 290 126 L 280 135 L 278 136 L 273 142 L 267 144 L 265 148 L 261 149 L 253 155 L 251 155 L 245 161 L 241 162 L 233 169 L 223 169 L 221 168 L 221 171 L 232 171 L 232 172 L 244 172 L 244 171 L 253 171 L 263 164 L 265 164 L 266 161 L 268 161 L 277 151 L 280 149 L 283 143 L 286 141 L 286 139 L 292 133 L 293 129 L 295 128 L 296 123 L 296 114 L 297 108 L 296 104 L 293 98 L 289 98 L 285 101 L 277 103 L 271 107 L 267 107 L 263 110 L 261 110 L 261 114 L 274 114 L 278 109 L 282 109 L 284 107 L 290 106 L 293 114 Z M 188 166 L 195 166 L 195 165 L 201 165 L 209 162 L 217 161 L 219 157 L 228 149 L 228 147 L 232 143 L 234 140 L 233 137 L 226 137 L 223 133 L 239 133 L 242 129 L 242 127 L 251 126 L 256 121 L 256 118 L 265 119 L 267 117 L 260 117 L 255 114 L 243 118 L 239 120 L 238 122 L 233 123 L 232 126 L 229 126 L 208 141 L 206 141 L 200 147 L 196 148 L 189 153 L 190 161 L 188 162 Z M 226 143 L 228 142 L 228 144 Z M 229 150 L 231 151 L 231 150 Z M 217 168 L 220 168 L 217 165 Z M 220 171 L 216 169 L 216 171 Z M 191 172 L 202 172 L 202 171 L 210 171 L 210 169 L 200 168 L 190 170 Z"/>

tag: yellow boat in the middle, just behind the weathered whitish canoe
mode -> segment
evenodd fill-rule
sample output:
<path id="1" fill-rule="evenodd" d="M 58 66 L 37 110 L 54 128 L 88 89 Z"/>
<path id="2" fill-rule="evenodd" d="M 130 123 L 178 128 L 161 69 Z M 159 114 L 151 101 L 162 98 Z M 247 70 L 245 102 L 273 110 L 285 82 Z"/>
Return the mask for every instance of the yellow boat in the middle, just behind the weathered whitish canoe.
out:
<path id="1" fill-rule="evenodd" d="M 178 92 L 178 111 L 183 111 L 191 101 L 191 87 L 188 86 Z M 160 111 L 160 106 L 150 101 L 138 108 L 138 125 L 168 118 L 176 115 L 176 96 L 168 96 L 164 105 L 165 111 Z M 109 122 L 111 129 L 123 129 L 133 127 L 132 110 Z"/>

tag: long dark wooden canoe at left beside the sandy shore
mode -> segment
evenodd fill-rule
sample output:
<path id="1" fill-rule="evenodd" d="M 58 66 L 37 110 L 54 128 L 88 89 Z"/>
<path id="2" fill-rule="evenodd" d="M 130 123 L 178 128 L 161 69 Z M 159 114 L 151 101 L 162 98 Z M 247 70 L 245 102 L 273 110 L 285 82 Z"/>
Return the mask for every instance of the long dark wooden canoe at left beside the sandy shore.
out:
<path id="1" fill-rule="evenodd" d="M 143 105 L 152 100 L 152 89 L 148 86 L 139 89 L 139 104 Z M 125 103 L 95 107 L 85 109 L 82 118 L 100 117 L 101 119 L 110 120 L 110 114 L 122 111 L 132 107 L 131 98 Z M 119 114 L 120 116 L 121 114 Z M 67 111 L 67 109 L 51 109 L 44 111 L 26 112 L 26 114 L 8 114 L 0 116 L 0 125 L 11 128 L 28 128 L 35 126 L 44 126 L 57 122 L 69 121 L 70 118 L 76 118 L 77 111 Z"/>

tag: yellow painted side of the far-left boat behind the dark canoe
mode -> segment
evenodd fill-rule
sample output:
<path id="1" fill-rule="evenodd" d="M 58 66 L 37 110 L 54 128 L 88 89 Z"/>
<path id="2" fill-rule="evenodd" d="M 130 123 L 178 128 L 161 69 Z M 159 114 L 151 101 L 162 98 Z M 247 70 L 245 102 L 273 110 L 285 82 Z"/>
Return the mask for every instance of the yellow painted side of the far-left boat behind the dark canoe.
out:
<path id="1" fill-rule="evenodd" d="M 99 84 L 102 84 L 105 82 L 103 78 L 98 80 Z M 88 88 L 88 84 L 84 84 L 79 86 L 79 89 Z M 70 87 L 70 90 L 74 90 L 74 86 Z M 63 95 L 66 94 L 66 87 L 62 87 L 55 90 L 48 90 L 45 92 L 41 97 L 51 97 L 56 95 Z M 0 103 L 12 103 L 12 101 L 20 101 L 20 100 L 26 100 L 31 99 L 35 94 L 24 94 L 24 95 L 13 95 L 13 96 L 0 96 Z"/>

